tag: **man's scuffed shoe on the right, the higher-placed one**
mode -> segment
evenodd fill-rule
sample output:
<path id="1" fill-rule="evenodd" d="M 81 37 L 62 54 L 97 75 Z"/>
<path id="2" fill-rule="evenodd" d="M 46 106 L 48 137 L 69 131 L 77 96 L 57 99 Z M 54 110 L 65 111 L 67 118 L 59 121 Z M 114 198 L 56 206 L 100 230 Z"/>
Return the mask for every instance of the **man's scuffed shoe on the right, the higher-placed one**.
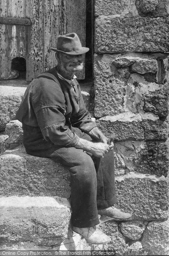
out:
<path id="1" fill-rule="evenodd" d="M 98 214 L 106 215 L 111 218 L 117 218 L 117 219 L 126 219 L 126 218 L 132 217 L 132 214 L 127 212 L 121 212 L 119 209 L 115 208 L 114 206 L 98 210 Z"/>

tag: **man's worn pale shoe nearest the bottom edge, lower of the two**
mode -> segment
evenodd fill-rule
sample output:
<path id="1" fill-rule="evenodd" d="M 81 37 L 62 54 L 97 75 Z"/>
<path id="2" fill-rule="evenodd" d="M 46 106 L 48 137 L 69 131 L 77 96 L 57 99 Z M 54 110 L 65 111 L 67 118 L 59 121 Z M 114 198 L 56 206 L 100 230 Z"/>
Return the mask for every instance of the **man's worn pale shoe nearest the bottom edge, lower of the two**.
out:
<path id="1" fill-rule="evenodd" d="M 111 241 L 111 238 L 94 227 L 72 227 L 72 230 L 86 239 L 89 244 L 106 244 Z"/>

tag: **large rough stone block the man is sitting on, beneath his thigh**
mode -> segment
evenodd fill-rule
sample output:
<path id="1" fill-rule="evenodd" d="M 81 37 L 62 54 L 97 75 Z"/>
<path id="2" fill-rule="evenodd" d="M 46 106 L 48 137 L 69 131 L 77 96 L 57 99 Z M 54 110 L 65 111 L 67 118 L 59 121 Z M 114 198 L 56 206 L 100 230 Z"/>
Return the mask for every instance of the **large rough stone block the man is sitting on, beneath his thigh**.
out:
<path id="1" fill-rule="evenodd" d="M 0 156 L 0 177 L 1 197 L 70 196 L 69 171 L 51 159 L 26 154 L 23 148 Z"/>

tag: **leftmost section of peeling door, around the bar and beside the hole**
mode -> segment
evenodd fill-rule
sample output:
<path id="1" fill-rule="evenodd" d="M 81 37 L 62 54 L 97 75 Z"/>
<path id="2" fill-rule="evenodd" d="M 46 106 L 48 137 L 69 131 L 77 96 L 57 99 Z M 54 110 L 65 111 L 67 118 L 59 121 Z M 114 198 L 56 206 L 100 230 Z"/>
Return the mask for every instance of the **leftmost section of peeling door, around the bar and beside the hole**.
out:
<path id="1" fill-rule="evenodd" d="M 0 0 L 0 17 L 25 17 L 24 0 Z M 0 78 L 7 78 L 11 61 L 25 58 L 25 26 L 0 24 Z"/>

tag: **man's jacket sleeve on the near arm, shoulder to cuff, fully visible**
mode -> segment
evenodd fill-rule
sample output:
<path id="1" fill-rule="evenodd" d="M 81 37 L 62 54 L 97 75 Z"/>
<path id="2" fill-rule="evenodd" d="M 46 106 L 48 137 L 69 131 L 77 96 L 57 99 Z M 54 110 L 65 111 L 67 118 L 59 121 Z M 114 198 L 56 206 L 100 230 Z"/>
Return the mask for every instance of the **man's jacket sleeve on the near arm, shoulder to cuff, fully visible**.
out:
<path id="1" fill-rule="evenodd" d="M 39 78 L 32 90 L 32 107 L 43 137 L 55 145 L 74 146 L 79 137 L 65 125 L 65 98 L 60 86 Z"/>

